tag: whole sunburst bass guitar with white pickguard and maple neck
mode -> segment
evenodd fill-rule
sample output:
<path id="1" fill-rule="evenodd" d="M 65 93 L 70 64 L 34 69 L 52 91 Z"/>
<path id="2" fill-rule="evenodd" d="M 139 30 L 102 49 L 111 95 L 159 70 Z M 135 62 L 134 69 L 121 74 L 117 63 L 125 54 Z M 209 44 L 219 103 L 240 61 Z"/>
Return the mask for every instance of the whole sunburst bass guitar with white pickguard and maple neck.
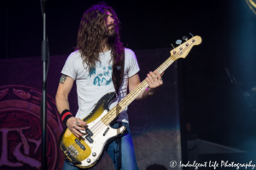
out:
<path id="1" fill-rule="evenodd" d="M 195 36 L 172 49 L 171 56 L 160 65 L 156 71 L 160 74 L 172 65 L 172 63 L 179 59 L 185 58 L 192 47 L 201 43 L 201 37 Z M 181 41 L 180 41 L 181 42 Z M 110 111 L 108 109 L 109 102 L 115 97 L 115 93 L 105 94 L 102 99 L 98 101 L 96 107 L 86 116 L 83 121 L 87 123 L 88 127 L 85 131 L 80 131 L 83 136 L 79 139 L 68 129 L 66 129 L 60 138 L 60 147 L 67 158 L 73 162 L 77 167 L 89 168 L 96 165 L 102 157 L 103 151 L 108 147 L 108 143 L 116 139 L 120 134 L 125 132 L 125 127 L 113 128 L 110 127 L 121 111 L 131 104 L 139 94 L 148 88 L 148 82 L 143 80 L 137 88 L 125 96 L 118 105 L 115 105 Z"/>

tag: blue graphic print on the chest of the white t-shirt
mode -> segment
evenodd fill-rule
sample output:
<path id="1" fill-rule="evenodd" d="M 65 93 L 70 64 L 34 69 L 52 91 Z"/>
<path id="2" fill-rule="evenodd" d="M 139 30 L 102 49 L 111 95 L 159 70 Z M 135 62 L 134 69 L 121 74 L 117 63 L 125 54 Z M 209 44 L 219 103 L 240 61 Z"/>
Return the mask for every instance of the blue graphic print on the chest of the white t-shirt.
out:
<path id="1" fill-rule="evenodd" d="M 108 86 L 112 82 L 112 65 L 96 63 L 96 68 L 91 67 L 88 76 L 93 78 L 93 85 Z"/>

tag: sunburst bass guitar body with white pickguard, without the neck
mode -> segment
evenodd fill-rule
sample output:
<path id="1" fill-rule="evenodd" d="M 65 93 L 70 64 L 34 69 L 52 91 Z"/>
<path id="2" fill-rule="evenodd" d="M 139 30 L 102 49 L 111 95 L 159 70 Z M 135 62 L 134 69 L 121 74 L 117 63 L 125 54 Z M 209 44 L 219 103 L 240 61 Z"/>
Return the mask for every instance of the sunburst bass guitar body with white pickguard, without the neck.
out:
<path id="1" fill-rule="evenodd" d="M 125 132 L 125 126 L 119 128 L 110 127 L 108 117 L 108 105 L 115 93 L 105 94 L 83 121 L 88 127 L 79 139 L 67 128 L 61 134 L 60 147 L 67 158 L 77 167 L 89 168 L 94 166 L 102 157 L 108 143 Z"/>

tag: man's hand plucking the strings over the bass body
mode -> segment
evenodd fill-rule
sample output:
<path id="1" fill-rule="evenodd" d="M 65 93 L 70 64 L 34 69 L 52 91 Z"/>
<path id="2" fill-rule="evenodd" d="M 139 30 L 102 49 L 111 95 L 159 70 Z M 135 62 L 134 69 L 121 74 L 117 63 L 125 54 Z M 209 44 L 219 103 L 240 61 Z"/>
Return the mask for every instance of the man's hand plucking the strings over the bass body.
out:
<path id="1" fill-rule="evenodd" d="M 85 131 L 87 123 L 77 117 L 70 117 L 67 120 L 67 128 L 77 137 L 81 137 L 82 133 L 79 130 Z"/>

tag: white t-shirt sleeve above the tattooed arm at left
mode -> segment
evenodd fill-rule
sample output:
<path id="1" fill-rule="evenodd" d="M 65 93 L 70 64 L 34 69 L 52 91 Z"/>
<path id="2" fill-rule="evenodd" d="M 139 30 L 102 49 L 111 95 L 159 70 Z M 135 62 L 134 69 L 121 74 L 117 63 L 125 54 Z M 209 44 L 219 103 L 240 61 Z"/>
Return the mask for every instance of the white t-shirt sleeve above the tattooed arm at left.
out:
<path id="1" fill-rule="evenodd" d="M 73 78 L 73 80 L 76 80 L 77 74 L 76 74 L 74 65 L 75 65 L 75 55 L 74 53 L 72 53 L 67 57 L 65 65 L 63 66 L 63 69 L 61 71 L 61 74 L 67 75 L 68 77 Z"/>

